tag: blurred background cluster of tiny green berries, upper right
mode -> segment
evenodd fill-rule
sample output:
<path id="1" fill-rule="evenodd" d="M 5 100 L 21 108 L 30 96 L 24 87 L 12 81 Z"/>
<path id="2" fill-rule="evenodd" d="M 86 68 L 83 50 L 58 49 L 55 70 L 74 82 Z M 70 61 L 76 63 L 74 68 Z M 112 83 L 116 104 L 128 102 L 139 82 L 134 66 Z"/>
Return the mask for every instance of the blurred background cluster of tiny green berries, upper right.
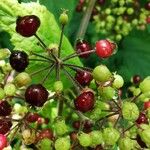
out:
<path id="1" fill-rule="evenodd" d="M 79 0 L 76 11 L 86 11 L 88 4 L 89 0 Z M 150 1 L 143 7 L 138 0 L 97 0 L 91 21 L 97 33 L 119 42 L 133 28 L 146 29 L 150 23 L 149 8 Z"/>

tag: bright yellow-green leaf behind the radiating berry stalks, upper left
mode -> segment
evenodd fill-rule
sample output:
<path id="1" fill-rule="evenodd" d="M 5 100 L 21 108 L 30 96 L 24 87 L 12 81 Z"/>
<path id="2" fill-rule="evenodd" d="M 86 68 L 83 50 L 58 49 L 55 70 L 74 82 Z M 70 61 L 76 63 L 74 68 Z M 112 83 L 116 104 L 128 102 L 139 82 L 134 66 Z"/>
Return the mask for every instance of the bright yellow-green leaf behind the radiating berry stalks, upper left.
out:
<path id="1" fill-rule="evenodd" d="M 0 28 L 7 31 L 11 35 L 11 42 L 15 46 L 15 49 L 24 50 L 26 52 L 30 52 L 31 50 L 43 54 L 44 51 L 37 45 L 37 39 L 35 37 L 24 38 L 16 33 L 16 19 L 18 16 L 24 16 L 33 14 L 40 18 L 41 26 L 37 32 L 38 36 L 44 41 L 46 45 L 50 45 L 51 43 L 59 43 L 60 39 L 60 28 L 57 25 L 55 18 L 52 13 L 50 13 L 45 6 L 40 5 L 38 2 L 30 2 L 30 3 L 21 3 L 19 4 L 17 0 L 1 0 L 0 1 Z M 64 57 L 73 53 L 73 48 L 69 43 L 66 37 L 63 38 L 61 56 Z M 71 64 L 82 65 L 78 58 L 71 59 L 68 61 Z M 34 70 L 39 70 L 41 67 L 47 66 L 46 63 L 32 62 L 29 65 L 29 73 Z M 39 82 L 45 76 L 45 72 L 42 72 L 40 75 L 34 78 L 34 82 Z M 52 83 L 54 82 L 54 74 L 51 78 L 46 82 L 46 87 L 51 88 Z M 66 86 L 70 86 L 68 84 L 68 79 L 61 74 L 63 81 Z"/>

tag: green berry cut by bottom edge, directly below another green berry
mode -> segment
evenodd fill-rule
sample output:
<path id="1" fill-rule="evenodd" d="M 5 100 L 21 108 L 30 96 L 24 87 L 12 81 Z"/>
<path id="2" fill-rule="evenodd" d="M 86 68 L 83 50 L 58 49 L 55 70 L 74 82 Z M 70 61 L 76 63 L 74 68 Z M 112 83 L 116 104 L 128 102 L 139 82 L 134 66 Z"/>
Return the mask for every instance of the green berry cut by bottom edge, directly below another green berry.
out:
<path id="1" fill-rule="evenodd" d="M 70 150 L 70 139 L 68 137 L 58 138 L 55 141 L 55 150 Z"/>

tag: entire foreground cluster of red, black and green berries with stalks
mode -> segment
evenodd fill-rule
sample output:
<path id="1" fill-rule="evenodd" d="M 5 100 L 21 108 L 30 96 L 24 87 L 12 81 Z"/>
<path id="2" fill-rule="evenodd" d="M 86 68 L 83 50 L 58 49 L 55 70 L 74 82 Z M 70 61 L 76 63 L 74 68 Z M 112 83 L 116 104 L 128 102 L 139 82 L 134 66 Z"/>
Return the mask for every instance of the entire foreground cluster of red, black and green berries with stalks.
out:
<path id="1" fill-rule="evenodd" d="M 79 40 L 75 53 L 62 58 L 66 11 L 59 21 L 62 33 L 57 51 L 53 51 L 56 47 L 48 48 L 37 35 L 40 19 L 34 15 L 19 17 L 16 32 L 26 38 L 35 36 L 46 55 L 0 51 L 0 149 L 14 146 L 16 140 L 21 149 L 100 150 L 115 145 L 121 150 L 150 148 L 150 77 L 142 80 L 135 75 L 123 99 L 121 75 L 102 64 L 91 69 L 67 62 L 74 57 L 86 59 L 92 53 L 109 58 L 117 45 L 103 39 L 92 49 L 87 41 Z M 42 61 L 48 66 L 29 74 L 31 61 Z M 43 70 L 48 70 L 43 80 L 33 83 L 34 75 Z M 52 93 L 44 83 L 54 70 Z M 75 71 L 75 76 L 70 70 Z M 72 81 L 73 89 L 64 89 L 60 72 Z"/>

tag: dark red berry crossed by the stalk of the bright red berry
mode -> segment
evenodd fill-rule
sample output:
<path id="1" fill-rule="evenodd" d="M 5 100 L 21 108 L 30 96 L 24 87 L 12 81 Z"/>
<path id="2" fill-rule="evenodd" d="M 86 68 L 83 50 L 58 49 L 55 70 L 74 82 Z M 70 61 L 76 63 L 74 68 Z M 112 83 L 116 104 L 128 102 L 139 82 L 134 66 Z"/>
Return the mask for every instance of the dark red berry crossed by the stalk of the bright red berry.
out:
<path id="1" fill-rule="evenodd" d="M 78 54 L 82 52 L 87 52 L 91 50 L 91 46 L 89 43 L 85 40 L 78 40 L 76 43 L 76 51 Z M 90 55 L 90 53 L 87 52 L 87 54 L 82 54 L 79 57 L 81 58 L 87 58 Z"/>

